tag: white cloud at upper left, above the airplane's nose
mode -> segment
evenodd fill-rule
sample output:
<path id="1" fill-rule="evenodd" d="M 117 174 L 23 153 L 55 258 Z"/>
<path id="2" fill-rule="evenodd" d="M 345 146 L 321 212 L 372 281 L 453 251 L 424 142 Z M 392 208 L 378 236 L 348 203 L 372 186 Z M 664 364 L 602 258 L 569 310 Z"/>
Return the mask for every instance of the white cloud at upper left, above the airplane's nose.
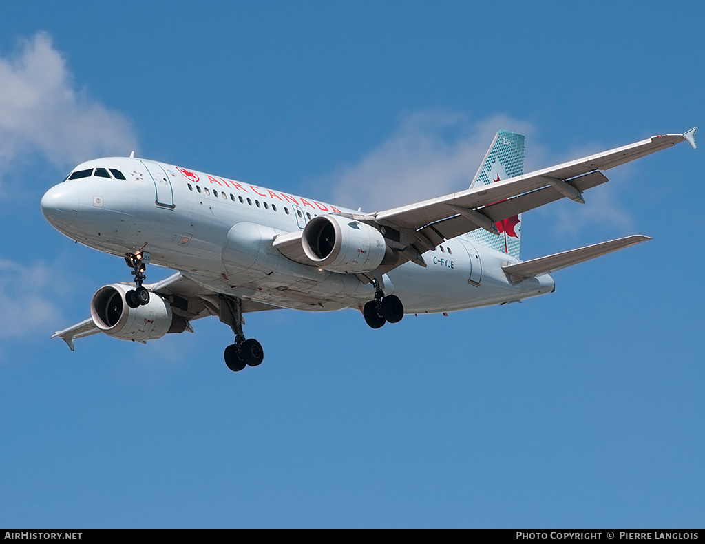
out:
<path id="1" fill-rule="evenodd" d="M 65 168 L 136 147 L 130 121 L 75 89 L 44 32 L 0 56 L 0 81 L 0 180 L 11 162 L 37 152 Z"/>

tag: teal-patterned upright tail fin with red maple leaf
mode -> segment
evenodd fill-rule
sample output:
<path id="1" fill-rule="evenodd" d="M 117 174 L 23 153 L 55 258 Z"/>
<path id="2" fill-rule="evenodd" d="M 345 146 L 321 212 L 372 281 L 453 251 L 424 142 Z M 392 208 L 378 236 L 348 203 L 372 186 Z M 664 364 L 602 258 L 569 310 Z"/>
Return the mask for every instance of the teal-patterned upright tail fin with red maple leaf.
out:
<path id="1" fill-rule="evenodd" d="M 524 173 L 524 136 L 515 132 L 498 131 L 492 140 L 484 161 L 477 170 L 470 188 L 520 176 Z M 465 236 L 502 253 L 519 258 L 522 215 L 508 217 L 496 223 L 499 234 L 477 229 Z"/>

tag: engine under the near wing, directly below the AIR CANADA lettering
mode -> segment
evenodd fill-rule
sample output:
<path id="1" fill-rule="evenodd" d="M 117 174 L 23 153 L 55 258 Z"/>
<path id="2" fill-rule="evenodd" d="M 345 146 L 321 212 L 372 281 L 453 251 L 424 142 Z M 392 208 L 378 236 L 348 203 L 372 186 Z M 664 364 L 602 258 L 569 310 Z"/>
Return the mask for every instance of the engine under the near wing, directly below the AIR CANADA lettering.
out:
<path id="1" fill-rule="evenodd" d="M 319 215 L 304 229 L 301 243 L 306 256 L 331 272 L 369 272 L 384 259 L 386 243 L 381 232 L 339 215 Z"/>

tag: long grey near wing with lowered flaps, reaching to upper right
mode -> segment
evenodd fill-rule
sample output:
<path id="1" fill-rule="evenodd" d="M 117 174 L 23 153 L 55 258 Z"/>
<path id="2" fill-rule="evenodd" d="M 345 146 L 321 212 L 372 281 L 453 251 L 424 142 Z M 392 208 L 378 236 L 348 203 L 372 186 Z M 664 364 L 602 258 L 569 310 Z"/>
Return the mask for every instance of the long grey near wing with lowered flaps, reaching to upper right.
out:
<path id="1" fill-rule="evenodd" d="M 568 197 L 583 203 L 583 191 L 608 181 L 601 170 L 611 169 L 684 141 L 696 147 L 696 130 L 692 128 L 684 134 L 652 136 L 647 140 L 515 176 L 489 186 L 474 187 L 374 214 L 350 214 L 350 217 L 368 224 L 389 227 L 387 231 L 393 230 L 393 236 L 385 236 L 391 238 L 391 246 L 400 252 L 400 258 L 391 267 L 386 267 L 384 272 L 407 260 L 424 265 L 421 254 L 448 238 L 479 228 L 497 234 L 496 222 L 560 198 Z"/>

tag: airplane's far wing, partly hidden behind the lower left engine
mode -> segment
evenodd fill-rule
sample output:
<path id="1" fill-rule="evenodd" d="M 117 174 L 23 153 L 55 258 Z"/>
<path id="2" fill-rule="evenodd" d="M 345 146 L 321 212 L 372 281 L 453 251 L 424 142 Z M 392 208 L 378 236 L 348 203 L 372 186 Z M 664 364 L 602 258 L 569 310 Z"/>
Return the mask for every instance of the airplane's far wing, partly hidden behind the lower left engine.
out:
<path id="1" fill-rule="evenodd" d="M 204 289 L 204 287 L 182 276 L 180 272 L 156 284 L 145 284 L 145 287 L 152 293 L 165 298 L 171 305 L 173 313 L 184 318 L 189 323 L 195 319 L 206 318 L 209 315 L 220 315 L 219 294 L 215 291 Z M 243 313 L 277 309 L 276 306 L 243 299 Z M 190 325 L 188 325 L 187 330 L 193 332 Z M 73 325 L 73 327 L 54 333 L 51 338 L 63 339 L 73 351 L 73 341 L 75 339 L 97 334 L 98 332 L 101 332 L 101 330 L 95 326 L 91 318 L 88 318 Z"/>

